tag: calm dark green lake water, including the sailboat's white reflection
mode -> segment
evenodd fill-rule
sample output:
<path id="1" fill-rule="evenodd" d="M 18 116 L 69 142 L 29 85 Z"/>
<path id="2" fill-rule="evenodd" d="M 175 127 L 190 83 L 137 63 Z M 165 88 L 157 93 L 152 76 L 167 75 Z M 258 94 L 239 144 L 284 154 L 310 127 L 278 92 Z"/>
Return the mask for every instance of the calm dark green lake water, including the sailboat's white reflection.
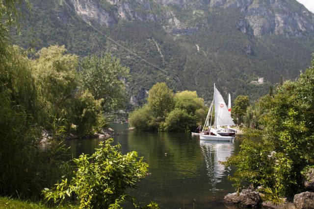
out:
<path id="1" fill-rule="evenodd" d="M 128 132 L 128 124 L 112 124 L 115 143 L 122 152 L 137 151 L 149 164 L 150 176 L 131 191 L 143 205 L 151 201 L 161 209 L 226 209 L 224 196 L 235 192 L 227 176 L 233 172 L 220 165 L 239 150 L 239 142 L 203 141 L 184 133 Z M 76 157 L 91 154 L 100 139 L 67 143 Z M 165 154 L 166 153 L 166 154 Z M 128 207 L 126 207 L 128 208 Z"/>

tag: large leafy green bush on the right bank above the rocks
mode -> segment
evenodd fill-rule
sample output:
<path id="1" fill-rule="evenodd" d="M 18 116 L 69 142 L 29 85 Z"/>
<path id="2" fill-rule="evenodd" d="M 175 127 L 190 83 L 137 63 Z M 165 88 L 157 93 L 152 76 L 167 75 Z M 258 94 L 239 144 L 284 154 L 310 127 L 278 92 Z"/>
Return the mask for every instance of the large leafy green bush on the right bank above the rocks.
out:
<path id="1" fill-rule="evenodd" d="M 301 74 L 294 82 L 286 81 L 257 105 L 265 110 L 257 118 L 261 141 L 244 140 L 239 154 L 225 165 L 237 166 L 230 179 L 238 189 L 269 187 L 269 198 L 278 202 L 277 197 L 293 197 L 303 188 L 302 170 L 314 162 L 314 76 Z"/>

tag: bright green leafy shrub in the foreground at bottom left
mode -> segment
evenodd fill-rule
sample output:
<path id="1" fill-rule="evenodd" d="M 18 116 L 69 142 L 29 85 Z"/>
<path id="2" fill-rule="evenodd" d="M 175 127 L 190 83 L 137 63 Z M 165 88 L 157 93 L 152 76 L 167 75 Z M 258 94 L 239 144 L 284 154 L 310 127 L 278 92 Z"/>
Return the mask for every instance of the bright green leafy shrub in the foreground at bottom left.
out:
<path id="1" fill-rule="evenodd" d="M 135 183 L 146 176 L 148 164 L 134 151 L 123 155 L 119 144 L 110 145 L 112 141 L 100 142 L 91 156 L 82 154 L 74 159 L 73 178 L 62 179 L 53 189 L 45 188 L 45 197 L 62 203 L 76 195 L 80 208 L 120 208 L 121 200 L 132 201 L 126 189 L 136 187 Z"/>

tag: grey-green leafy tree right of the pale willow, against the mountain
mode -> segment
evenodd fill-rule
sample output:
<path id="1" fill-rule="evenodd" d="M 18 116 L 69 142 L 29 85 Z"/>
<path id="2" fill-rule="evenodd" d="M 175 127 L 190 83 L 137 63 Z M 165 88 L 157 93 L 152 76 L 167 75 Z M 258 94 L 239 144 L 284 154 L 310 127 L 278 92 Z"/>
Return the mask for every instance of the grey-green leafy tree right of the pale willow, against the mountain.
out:
<path id="1" fill-rule="evenodd" d="M 110 54 L 88 56 L 79 63 L 80 88 L 88 90 L 95 99 L 104 99 L 105 111 L 115 110 L 123 106 L 125 79 L 129 69 L 120 64 L 120 60 Z"/>

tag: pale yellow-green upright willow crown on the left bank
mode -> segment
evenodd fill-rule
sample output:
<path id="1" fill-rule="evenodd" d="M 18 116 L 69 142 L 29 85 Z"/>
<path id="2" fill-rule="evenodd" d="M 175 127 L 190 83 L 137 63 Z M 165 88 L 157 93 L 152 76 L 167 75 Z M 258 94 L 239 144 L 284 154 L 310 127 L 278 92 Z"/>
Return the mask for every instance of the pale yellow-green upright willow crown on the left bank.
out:
<path id="1" fill-rule="evenodd" d="M 32 63 L 43 120 L 50 115 L 73 119 L 69 109 L 77 87 L 78 57 L 65 52 L 64 46 L 42 48 Z"/>

